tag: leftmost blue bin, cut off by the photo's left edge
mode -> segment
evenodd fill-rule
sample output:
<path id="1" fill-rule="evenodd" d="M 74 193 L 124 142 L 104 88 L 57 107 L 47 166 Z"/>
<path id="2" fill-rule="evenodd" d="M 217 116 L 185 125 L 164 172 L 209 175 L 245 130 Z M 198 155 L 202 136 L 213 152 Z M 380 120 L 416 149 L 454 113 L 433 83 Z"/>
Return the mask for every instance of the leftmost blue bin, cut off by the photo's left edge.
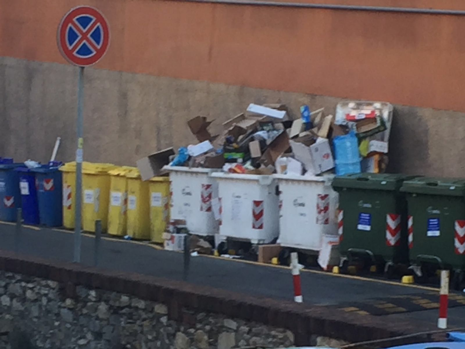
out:
<path id="1" fill-rule="evenodd" d="M 24 164 L 13 163 L 10 158 L 3 158 L 0 162 L 0 221 L 16 221 L 21 195 L 18 172 L 14 169 L 20 166 Z"/>

